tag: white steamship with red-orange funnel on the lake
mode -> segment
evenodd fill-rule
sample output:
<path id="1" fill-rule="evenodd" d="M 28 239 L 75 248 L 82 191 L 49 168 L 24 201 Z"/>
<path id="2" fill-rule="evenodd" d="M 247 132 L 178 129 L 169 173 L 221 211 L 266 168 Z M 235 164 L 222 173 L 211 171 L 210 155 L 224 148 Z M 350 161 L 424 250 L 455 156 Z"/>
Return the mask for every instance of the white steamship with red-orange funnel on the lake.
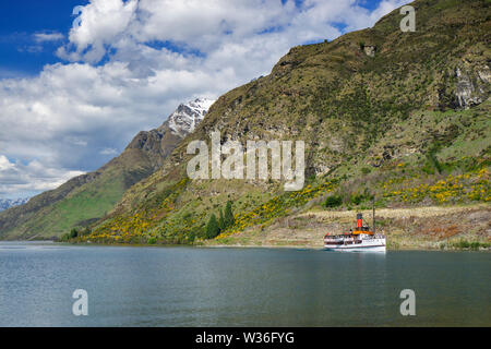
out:
<path id="1" fill-rule="evenodd" d="M 375 233 L 375 209 L 373 209 L 373 230 L 363 225 L 363 216 L 357 214 L 357 227 L 340 234 L 326 233 L 324 248 L 330 251 L 385 252 L 385 236 Z"/>

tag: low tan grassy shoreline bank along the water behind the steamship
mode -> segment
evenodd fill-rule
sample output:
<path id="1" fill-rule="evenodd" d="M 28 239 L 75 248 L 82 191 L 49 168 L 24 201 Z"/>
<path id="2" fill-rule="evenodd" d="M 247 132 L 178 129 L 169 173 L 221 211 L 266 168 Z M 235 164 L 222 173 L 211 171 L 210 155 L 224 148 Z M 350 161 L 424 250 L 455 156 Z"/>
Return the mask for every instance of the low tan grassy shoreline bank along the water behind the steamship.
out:
<path id="1" fill-rule="evenodd" d="M 359 210 L 370 222 L 371 210 Z M 491 251 L 490 204 L 379 208 L 376 228 L 386 236 L 387 251 Z M 194 248 L 263 248 L 323 250 L 326 232 L 347 231 L 354 224 L 354 210 L 312 208 L 296 215 L 282 216 L 220 234 L 211 240 L 196 239 L 189 244 L 166 244 L 110 241 L 60 241 L 37 234 L 20 241 L 104 246 L 194 246 Z"/>

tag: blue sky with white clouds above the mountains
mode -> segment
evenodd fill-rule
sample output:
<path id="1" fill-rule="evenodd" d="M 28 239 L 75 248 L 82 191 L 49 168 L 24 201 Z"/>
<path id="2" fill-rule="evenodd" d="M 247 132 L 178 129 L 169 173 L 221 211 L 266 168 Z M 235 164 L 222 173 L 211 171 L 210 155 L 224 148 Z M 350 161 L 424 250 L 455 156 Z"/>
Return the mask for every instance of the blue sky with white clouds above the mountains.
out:
<path id="1" fill-rule="evenodd" d="M 217 98 L 268 74 L 290 47 L 371 26 L 407 2 L 2 1 L 0 197 L 95 170 L 180 103 Z"/>

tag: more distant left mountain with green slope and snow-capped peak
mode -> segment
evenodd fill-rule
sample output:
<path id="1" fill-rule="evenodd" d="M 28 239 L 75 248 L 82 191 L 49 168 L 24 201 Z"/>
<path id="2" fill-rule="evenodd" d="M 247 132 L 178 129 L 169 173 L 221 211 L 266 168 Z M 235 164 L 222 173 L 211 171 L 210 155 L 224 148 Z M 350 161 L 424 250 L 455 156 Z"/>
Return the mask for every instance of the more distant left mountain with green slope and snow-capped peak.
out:
<path id="1" fill-rule="evenodd" d="M 0 238 L 50 238 L 97 221 L 134 183 L 154 173 L 179 141 L 203 120 L 209 99 L 181 104 L 157 129 L 142 131 L 123 153 L 94 172 L 0 213 Z"/>

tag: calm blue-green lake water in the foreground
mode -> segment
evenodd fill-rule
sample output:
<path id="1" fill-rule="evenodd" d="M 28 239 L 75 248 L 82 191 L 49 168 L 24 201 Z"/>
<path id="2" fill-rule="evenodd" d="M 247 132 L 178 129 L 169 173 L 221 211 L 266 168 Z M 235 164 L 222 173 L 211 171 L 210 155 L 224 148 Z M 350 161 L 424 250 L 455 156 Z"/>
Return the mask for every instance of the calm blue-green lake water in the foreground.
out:
<path id="1" fill-rule="evenodd" d="M 479 252 L 1 242 L 0 326 L 491 326 L 490 272 Z"/>

